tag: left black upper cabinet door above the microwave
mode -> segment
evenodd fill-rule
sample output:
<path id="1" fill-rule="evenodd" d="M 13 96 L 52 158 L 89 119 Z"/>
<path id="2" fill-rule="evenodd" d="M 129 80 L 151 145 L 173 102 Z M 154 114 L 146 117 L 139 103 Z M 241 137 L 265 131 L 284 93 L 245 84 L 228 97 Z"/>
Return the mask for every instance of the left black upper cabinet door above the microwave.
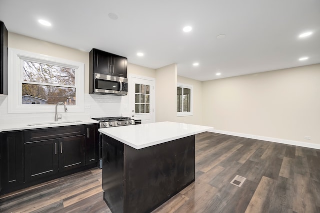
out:
<path id="1" fill-rule="evenodd" d="M 101 50 L 93 50 L 94 57 L 94 72 L 105 75 L 111 74 L 111 56 Z"/>

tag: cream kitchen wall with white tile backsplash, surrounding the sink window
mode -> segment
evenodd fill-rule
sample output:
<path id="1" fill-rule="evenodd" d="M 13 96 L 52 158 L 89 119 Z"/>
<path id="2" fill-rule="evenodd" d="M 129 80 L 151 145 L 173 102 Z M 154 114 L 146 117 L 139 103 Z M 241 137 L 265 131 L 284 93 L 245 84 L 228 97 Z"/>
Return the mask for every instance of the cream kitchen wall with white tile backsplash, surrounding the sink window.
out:
<path id="1" fill-rule="evenodd" d="M 58 58 L 73 60 L 82 62 L 85 64 L 85 111 L 83 113 L 71 113 L 78 116 L 86 117 L 110 117 L 121 116 L 122 113 L 128 111 L 128 96 L 111 96 L 111 95 L 91 95 L 88 94 L 88 76 L 89 76 L 89 53 L 72 49 L 69 47 L 57 45 L 54 43 L 38 40 L 35 38 L 8 33 L 8 47 L 21 49 L 29 52 L 40 53 L 44 55 L 54 56 Z M 155 70 L 146 67 L 129 64 L 128 73 L 134 73 L 138 75 L 155 76 Z M 8 70 L 10 72 L 10 70 Z M 63 113 L 62 113 L 63 116 Z M 54 112 L 52 113 L 10 113 L 7 110 L 7 96 L 0 96 L 0 121 L 6 119 L 22 119 L 22 120 L 41 120 L 41 119 L 53 119 Z"/>

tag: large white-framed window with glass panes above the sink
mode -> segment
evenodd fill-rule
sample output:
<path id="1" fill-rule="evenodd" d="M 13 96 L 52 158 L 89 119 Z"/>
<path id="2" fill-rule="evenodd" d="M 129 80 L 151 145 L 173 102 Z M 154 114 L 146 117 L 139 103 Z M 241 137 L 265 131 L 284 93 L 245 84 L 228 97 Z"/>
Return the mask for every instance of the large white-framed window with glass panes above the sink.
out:
<path id="1" fill-rule="evenodd" d="M 84 111 L 84 64 L 9 48 L 9 113 Z M 16 83 L 18 82 L 18 84 Z"/>

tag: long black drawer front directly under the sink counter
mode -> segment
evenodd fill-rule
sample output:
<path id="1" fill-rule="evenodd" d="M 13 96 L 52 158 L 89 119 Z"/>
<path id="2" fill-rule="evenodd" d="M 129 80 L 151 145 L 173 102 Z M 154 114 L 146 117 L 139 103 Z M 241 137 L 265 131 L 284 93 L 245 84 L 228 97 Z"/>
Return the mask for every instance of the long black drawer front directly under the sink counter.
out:
<path id="1" fill-rule="evenodd" d="M 24 130 L 24 142 L 48 140 L 85 134 L 85 125 Z"/>

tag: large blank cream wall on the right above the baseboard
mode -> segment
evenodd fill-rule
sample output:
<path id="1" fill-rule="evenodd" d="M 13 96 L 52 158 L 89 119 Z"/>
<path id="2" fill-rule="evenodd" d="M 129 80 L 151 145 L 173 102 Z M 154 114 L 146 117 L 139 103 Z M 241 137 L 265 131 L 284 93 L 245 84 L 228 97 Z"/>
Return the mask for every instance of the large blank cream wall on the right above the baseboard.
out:
<path id="1" fill-rule="evenodd" d="M 315 64 L 205 81 L 203 125 L 320 144 L 319 80 L 320 64 Z"/>

